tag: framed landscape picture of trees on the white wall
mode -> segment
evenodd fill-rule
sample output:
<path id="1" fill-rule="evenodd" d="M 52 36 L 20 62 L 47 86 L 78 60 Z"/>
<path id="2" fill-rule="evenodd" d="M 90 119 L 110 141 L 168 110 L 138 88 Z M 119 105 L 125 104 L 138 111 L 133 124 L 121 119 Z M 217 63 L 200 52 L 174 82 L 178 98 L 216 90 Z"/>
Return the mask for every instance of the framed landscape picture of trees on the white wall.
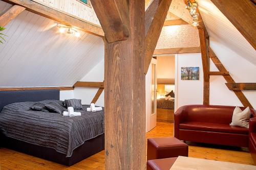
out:
<path id="1" fill-rule="evenodd" d="M 199 80 L 199 67 L 181 67 L 181 80 Z"/>

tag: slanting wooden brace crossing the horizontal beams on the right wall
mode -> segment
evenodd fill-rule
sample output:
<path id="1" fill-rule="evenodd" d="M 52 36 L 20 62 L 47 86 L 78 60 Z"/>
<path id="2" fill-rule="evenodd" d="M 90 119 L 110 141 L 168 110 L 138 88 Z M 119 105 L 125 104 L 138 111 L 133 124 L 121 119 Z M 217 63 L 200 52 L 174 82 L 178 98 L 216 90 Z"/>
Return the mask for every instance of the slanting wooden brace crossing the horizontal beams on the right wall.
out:
<path id="1" fill-rule="evenodd" d="M 221 63 L 221 61 L 218 59 L 218 57 L 215 55 L 214 51 L 209 48 L 209 57 L 214 62 L 216 67 L 219 69 L 219 71 L 227 71 L 224 65 Z M 227 81 L 227 83 L 236 83 L 234 82 L 233 78 L 228 76 L 223 76 L 223 78 Z M 245 95 L 242 91 L 235 90 L 234 93 L 237 95 L 238 99 L 242 103 L 244 107 L 250 107 L 253 108 L 250 104 L 250 102 L 246 99 Z"/>

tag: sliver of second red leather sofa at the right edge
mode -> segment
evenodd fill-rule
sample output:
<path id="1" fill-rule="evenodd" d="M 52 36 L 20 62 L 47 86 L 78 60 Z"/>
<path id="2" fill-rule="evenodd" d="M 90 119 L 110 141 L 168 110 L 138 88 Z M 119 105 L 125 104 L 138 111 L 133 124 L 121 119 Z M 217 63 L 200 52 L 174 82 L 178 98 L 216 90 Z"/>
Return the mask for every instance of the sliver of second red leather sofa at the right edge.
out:
<path id="1" fill-rule="evenodd" d="M 250 119 L 249 125 L 249 150 L 256 165 L 256 118 Z"/>

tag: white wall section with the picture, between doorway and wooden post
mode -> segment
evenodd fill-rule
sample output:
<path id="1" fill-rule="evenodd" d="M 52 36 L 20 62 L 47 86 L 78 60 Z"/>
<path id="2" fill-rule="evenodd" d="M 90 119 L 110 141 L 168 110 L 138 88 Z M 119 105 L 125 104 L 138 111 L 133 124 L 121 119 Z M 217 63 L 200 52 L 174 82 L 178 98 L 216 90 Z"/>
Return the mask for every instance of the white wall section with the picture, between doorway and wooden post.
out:
<path id="1" fill-rule="evenodd" d="M 203 67 L 201 53 L 176 55 L 175 100 L 177 108 L 183 105 L 203 104 Z M 181 80 L 181 67 L 200 67 L 199 80 Z"/>

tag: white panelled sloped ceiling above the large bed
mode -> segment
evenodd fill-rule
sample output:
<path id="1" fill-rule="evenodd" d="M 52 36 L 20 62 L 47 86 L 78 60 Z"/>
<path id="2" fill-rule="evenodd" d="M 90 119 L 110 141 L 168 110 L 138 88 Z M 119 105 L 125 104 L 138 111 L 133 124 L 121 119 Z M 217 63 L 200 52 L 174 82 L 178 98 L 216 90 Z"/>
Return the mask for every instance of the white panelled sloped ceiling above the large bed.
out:
<path id="1" fill-rule="evenodd" d="M 0 13 L 10 7 L 0 1 Z M 57 23 L 23 11 L 0 44 L 0 87 L 73 86 L 104 58 L 102 38 L 59 33 Z"/>

